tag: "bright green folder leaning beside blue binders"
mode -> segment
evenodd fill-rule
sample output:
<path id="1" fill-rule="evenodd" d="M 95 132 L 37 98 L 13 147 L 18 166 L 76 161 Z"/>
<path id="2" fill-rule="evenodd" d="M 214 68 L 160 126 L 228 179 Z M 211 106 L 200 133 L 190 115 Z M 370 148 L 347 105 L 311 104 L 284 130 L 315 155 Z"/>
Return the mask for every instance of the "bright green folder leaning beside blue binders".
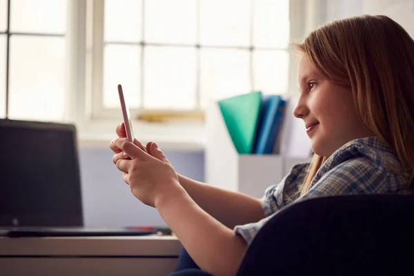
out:
<path id="1" fill-rule="evenodd" d="M 228 133 L 240 155 L 248 155 L 253 152 L 261 103 L 262 92 L 260 91 L 219 101 Z"/>

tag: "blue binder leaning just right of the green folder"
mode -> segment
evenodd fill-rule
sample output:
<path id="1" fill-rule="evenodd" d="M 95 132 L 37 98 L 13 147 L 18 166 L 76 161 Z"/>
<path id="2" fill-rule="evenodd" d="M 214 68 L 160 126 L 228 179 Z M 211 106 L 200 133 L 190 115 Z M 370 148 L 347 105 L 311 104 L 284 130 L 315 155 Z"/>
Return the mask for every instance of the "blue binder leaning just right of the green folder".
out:
<path id="1" fill-rule="evenodd" d="M 282 124 L 286 101 L 280 95 L 267 95 L 262 99 L 254 153 L 270 155 Z"/>

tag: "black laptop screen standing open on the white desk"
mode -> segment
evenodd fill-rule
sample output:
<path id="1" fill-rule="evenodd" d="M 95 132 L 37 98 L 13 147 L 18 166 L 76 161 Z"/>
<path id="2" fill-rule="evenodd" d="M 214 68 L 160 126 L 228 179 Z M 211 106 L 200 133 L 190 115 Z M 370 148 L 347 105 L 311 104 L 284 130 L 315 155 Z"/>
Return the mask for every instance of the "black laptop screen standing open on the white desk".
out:
<path id="1" fill-rule="evenodd" d="M 82 226 L 75 127 L 0 120 L 0 226 Z"/>

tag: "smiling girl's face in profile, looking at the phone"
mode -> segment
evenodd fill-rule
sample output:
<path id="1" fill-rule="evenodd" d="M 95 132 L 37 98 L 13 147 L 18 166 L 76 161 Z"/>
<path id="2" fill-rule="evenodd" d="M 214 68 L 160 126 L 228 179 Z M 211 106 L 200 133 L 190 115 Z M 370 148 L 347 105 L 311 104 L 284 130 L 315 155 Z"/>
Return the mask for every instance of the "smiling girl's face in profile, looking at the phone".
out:
<path id="1" fill-rule="evenodd" d="M 328 157 L 348 141 L 373 136 L 359 121 L 351 88 L 324 79 L 306 54 L 297 76 L 300 96 L 293 115 L 304 120 L 315 154 Z"/>

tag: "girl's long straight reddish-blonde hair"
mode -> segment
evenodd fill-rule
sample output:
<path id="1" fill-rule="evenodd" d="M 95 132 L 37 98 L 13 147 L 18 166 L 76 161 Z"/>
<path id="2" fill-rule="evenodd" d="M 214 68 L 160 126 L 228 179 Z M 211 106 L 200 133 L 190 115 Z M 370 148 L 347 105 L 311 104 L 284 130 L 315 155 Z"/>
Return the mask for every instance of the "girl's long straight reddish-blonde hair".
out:
<path id="1" fill-rule="evenodd" d="M 296 45 L 325 79 L 348 86 L 367 130 L 400 159 L 400 173 L 414 179 L 414 41 L 386 16 L 333 21 Z M 301 195 L 327 157 L 314 155 Z"/>

